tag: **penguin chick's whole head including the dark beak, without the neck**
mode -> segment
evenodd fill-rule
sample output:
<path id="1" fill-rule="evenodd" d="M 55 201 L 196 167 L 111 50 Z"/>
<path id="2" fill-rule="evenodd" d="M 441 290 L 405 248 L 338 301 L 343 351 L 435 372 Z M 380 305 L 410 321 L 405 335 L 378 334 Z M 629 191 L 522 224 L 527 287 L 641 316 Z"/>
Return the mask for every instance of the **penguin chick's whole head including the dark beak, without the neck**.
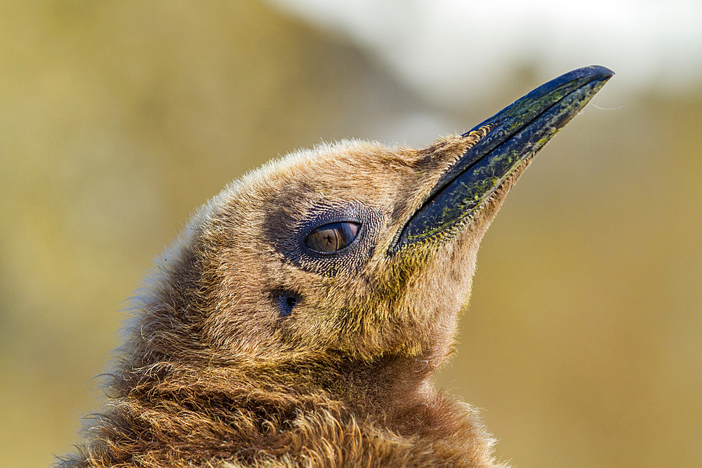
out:
<path id="1" fill-rule="evenodd" d="M 343 141 L 244 176 L 161 264 L 190 297 L 172 309 L 221 356 L 439 366 L 510 187 L 609 77 L 602 67 L 560 76 L 425 149 Z"/>

